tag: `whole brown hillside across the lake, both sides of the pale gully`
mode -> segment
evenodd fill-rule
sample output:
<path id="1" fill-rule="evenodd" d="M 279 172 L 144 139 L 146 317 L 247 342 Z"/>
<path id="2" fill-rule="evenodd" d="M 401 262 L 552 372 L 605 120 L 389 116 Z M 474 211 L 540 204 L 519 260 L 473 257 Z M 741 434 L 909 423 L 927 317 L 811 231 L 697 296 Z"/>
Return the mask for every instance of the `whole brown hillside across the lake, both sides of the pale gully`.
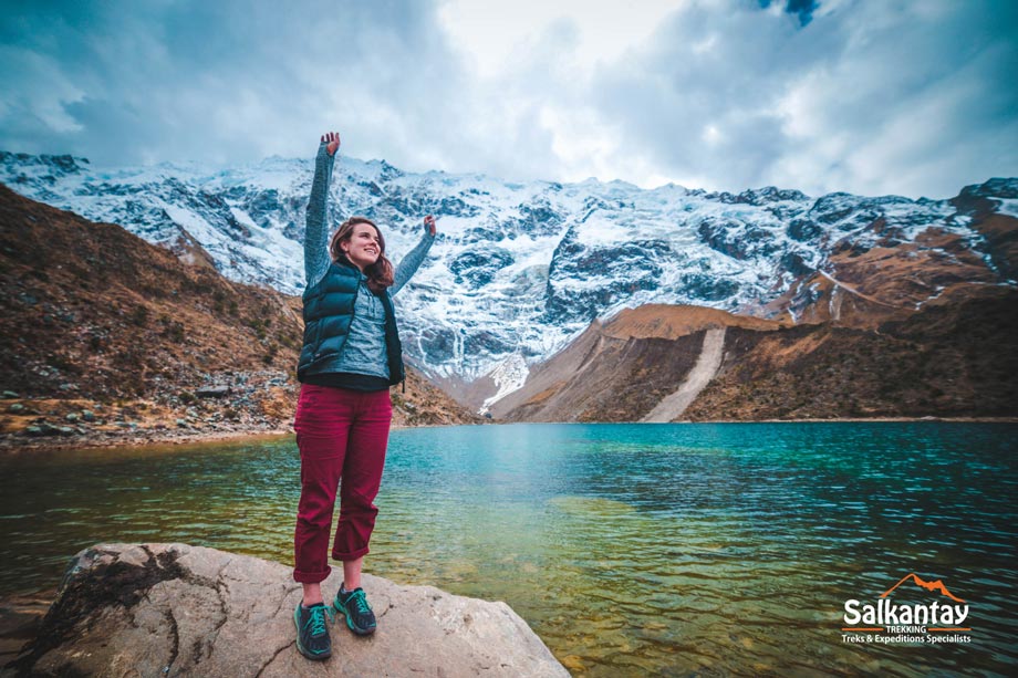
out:
<path id="1" fill-rule="evenodd" d="M 679 419 L 1014 417 L 1016 304 L 1011 288 L 967 285 L 874 331 L 642 306 L 611 331 L 592 323 L 491 411 L 513 421 L 638 421 L 678 389 L 705 331 L 720 323 L 720 367 Z"/>

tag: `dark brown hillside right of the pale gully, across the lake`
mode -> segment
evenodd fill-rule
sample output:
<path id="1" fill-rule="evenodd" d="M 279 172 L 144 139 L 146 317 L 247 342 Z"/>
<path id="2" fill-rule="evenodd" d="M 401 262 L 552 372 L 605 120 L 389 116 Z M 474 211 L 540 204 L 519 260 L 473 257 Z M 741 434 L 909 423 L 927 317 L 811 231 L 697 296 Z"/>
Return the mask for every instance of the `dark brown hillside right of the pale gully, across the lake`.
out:
<path id="1" fill-rule="evenodd" d="M 1018 416 L 1018 291 L 967 288 L 877 331 L 729 332 L 684 419 Z"/>

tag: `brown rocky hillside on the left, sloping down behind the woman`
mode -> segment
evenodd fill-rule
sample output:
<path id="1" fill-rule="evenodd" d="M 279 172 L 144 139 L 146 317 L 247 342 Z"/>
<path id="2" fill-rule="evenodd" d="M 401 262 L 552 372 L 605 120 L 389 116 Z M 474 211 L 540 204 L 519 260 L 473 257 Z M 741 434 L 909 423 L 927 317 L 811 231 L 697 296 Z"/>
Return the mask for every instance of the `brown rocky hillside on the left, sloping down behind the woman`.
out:
<path id="1" fill-rule="evenodd" d="M 30 425 L 61 426 L 67 444 L 289 428 L 300 299 L 227 281 L 191 254 L 196 265 L 0 186 L 0 387 L 11 392 L 0 432 L 18 434 L 8 446 Z M 230 393 L 196 397 L 212 385 Z M 476 420 L 416 374 L 393 394 L 397 424 Z"/>

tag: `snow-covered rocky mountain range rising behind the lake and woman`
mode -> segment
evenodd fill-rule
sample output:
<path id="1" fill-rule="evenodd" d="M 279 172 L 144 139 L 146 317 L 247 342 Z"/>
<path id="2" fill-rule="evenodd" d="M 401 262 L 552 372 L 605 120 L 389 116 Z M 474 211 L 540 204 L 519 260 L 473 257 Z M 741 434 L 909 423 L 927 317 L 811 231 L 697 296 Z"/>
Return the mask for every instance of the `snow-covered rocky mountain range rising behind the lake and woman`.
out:
<path id="1" fill-rule="evenodd" d="M 183 257 L 200 246 L 227 278 L 291 294 L 304 285 L 312 174 L 311 159 L 279 157 L 212 171 L 0 153 L 0 180 L 27 197 L 122 225 Z M 994 268 L 976 208 L 960 198 L 1016 217 L 1018 179 L 968 187 L 954 200 L 810 198 L 773 187 L 733 195 L 595 179 L 512 184 L 343 157 L 331 191 L 336 222 L 376 220 L 394 262 L 416 243 L 422 218 L 438 217 L 439 239 L 398 298 L 404 345 L 433 377 L 490 374 L 499 394 L 595 317 L 644 303 L 777 316 L 809 293 L 794 285 L 818 272 L 837 277 L 833 255 L 902 244 L 932 251 L 944 247 L 934 231 L 964 243 L 995 271 L 995 284 L 1015 284 Z M 768 306 L 776 300 L 789 301 Z"/>

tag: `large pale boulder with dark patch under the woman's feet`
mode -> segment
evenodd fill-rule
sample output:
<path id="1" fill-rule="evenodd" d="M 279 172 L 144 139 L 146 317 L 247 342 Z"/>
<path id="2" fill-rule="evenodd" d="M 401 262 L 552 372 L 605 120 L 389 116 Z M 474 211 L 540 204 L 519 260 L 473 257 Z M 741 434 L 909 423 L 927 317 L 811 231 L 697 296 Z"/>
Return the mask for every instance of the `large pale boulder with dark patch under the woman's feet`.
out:
<path id="1" fill-rule="evenodd" d="M 30 654 L 0 674 L 569 675 L 505 603 L 370 575 L 363 585 L 378 630 L 334 625 L 332 657 L 316 663 L 294 645 L 290 567 L 186 544 L 97 544 L 72 561 Z"/>

